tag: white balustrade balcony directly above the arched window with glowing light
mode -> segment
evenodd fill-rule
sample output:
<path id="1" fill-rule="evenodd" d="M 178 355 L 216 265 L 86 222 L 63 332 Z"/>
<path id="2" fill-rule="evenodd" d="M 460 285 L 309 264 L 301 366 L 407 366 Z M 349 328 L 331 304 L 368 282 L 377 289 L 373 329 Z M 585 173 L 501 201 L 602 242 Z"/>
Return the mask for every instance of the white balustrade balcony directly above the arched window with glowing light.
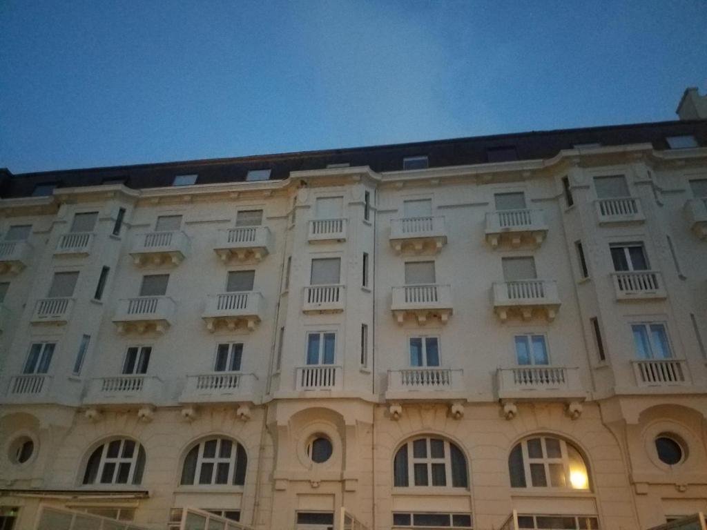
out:
<path id="1" fill-rule="evenodd" d="M 579 368 L 564 366 L 516 366 L 498 368 L 498 399 L 585 399 Z"/>

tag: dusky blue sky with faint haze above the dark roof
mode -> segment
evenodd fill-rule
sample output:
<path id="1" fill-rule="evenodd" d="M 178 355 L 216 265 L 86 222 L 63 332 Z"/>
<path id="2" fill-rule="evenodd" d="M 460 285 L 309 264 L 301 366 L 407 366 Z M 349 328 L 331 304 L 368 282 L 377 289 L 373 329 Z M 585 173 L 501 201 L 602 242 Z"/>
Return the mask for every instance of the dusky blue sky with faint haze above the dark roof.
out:
<path id="1" fill-rule="evenodd" d="M 0 0 L 12 172 L 677 119 L 707 1 Z"/>

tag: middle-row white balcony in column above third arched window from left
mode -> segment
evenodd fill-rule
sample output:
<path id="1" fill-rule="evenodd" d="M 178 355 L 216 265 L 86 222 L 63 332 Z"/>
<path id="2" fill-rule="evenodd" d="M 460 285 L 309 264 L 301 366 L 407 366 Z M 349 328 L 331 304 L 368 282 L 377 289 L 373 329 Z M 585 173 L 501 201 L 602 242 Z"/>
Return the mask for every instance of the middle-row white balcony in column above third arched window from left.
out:
<path id="1" fill-rule="evenodd" d="M 453 310 L 452 288 L 437 283 L 394 287 L 390 309 L 398 324 L 407 316 L 417 319 L 418 324 L 425 324 L 428 318 L 446 324 Z"/>

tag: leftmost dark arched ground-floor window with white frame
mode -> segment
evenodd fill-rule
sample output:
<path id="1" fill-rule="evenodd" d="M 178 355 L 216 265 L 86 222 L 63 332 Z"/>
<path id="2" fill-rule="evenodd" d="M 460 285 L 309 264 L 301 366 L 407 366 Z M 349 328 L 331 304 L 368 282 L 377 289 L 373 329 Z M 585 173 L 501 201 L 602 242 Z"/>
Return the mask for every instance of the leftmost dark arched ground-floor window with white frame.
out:
<path id="1" fill-rule="evenodd" d="M 120 438 L 101 445 L 86 463 L 84 484 L 139 484 L 145 469 L 145 449 L 135 440 Z"/>

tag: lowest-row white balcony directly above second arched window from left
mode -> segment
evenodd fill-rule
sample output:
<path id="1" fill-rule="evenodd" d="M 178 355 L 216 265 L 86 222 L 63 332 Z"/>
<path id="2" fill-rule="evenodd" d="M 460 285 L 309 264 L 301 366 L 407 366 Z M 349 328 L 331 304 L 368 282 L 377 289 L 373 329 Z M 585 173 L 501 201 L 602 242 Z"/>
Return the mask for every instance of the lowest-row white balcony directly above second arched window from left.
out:
<path id="1" fill-rule="evenodd" d="M 180 403 L 232 403 L 255 399 L 255 374 L 211 372 L 189 375 Z"/>

